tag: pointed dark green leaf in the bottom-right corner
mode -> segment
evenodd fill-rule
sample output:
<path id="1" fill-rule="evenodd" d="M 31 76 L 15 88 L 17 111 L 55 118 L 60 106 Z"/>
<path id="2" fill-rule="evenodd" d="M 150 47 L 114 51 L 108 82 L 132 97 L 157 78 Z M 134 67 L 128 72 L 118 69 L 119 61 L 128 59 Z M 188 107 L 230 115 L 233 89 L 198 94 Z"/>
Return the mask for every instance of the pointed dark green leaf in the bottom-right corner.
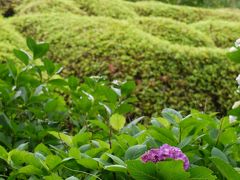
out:
<path id="1" fill-rule="evenodd" d="M 231 165 L 219 158 L 212 157 L 210 159 L 226 179 L 240 179 L 240 174 Z"/>

